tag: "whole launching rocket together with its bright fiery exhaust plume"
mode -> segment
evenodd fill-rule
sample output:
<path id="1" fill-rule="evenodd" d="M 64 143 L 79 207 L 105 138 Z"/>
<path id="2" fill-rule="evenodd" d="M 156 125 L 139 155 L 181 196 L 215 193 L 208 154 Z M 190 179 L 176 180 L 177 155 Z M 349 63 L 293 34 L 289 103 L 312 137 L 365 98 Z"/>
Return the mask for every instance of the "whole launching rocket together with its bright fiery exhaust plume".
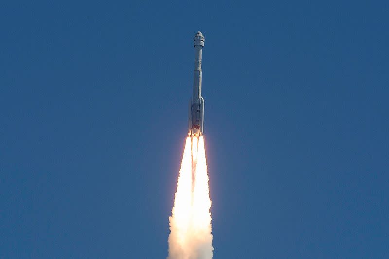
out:
<path id="1" fill-rule="evenodd" d="M 212 259 L 211 200 L 205 158 L 204 99 L 201 96 L 201 57 L 204 36 L 194 38 L 195 71 L 193 95 L 189 100 L 186 138 L 172 216 L 168 259 Z"/>

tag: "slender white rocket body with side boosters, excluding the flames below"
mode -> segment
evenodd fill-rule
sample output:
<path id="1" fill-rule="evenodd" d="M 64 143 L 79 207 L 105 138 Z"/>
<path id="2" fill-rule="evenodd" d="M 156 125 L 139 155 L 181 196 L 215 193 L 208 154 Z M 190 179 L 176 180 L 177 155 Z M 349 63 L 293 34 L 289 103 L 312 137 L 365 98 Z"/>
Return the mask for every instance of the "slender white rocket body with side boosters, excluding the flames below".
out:
<path id="1" fill-rule="evenodd" d="M 193 94 L 189 100 L 189 131 L 188 135 L 199 136 L 204 131 L 204 99 L 201 96 L 201 55 L 204 47 L 204 36 L 197 32 L 194 37 L 195 71 L 193 73 Z"/>

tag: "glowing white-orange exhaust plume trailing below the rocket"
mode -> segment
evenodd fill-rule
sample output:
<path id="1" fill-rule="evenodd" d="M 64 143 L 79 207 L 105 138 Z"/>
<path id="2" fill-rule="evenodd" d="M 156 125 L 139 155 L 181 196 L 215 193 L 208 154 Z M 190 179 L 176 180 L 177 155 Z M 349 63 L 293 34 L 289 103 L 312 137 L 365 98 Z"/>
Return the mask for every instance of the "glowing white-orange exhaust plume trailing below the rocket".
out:
<path id="1" fill-rule="evenodd" d="M 204 138 L 186 138 L 169 217 L 168 259 L 212 259 L 211 200 Z"/>

